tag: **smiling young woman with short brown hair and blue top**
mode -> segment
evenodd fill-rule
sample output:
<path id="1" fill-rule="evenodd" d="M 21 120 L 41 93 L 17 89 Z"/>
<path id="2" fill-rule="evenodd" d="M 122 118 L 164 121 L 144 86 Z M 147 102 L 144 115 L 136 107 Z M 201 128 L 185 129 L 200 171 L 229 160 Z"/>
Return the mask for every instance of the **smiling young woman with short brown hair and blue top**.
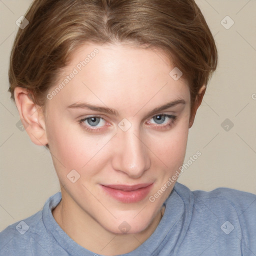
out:
<path id="1" fill-rule="evenodd" d="M 34 0 L 25 18 L 9 91 L 61 193 L 0 255 L 255 254 L 255 195 L 176 182 L 217 65 L 195 2 Z"/>

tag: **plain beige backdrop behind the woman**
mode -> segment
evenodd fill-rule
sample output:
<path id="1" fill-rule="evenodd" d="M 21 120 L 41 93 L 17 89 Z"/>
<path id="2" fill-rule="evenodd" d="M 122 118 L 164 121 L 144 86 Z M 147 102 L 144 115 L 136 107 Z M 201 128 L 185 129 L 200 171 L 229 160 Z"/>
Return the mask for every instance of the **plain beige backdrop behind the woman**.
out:
<path id="1" fill-rule="evenodd" d="M 256 193 L 256 1 L 196 2 L 216 40 L 219 63 L 189 130 L 184 162 L 197 150 L 201 156 L 179 182 L 192 190 L 225 186 Z M 30 3 L 0 0 L 0 230 L 37 212 L 59 191 L 49 152 L 16 127 L 18 112 L 7 92 L 15 21 Z M 227 15 L 234 21 L 229 29 L 221 24 Z M 221 126 L 226 118 L 234 124 L 228 131 L 226 123 Z"/>

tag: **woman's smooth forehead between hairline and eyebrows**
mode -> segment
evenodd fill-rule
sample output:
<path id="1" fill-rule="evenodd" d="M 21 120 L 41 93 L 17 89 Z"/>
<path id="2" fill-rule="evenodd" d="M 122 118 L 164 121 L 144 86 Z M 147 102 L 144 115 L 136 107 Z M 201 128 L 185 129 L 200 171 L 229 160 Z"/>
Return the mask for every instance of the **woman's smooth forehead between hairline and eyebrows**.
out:
<path id="1" fill-rule="evenodd" d="M 54 99 L 64 104 L 90 100 L 112 107 L 120 107 L 124 102 L 126 107 L 143 105 L 150 98 L 152 103 L 181 96 L 188 99 L 185 80 L 174 80 L 170 75 L 173 68 L 159 49 L 87 43 L 76 49 L 61 70 L 54 86 L 64 86 Z"/>

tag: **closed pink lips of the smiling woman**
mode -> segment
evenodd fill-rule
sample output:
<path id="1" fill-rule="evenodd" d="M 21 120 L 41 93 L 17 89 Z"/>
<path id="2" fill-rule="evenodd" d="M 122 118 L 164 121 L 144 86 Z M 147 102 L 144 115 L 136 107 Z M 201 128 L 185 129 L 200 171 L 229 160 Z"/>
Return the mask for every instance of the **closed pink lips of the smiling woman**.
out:
<path id="1" fill-rule="evenodd" d="M 111 196 L 112 198 L 121 202 L 132 203 L 144 199 L 153 186 L 153 183 L 135 185 L 101 184 L 100 186 L 108 196 Z"/>

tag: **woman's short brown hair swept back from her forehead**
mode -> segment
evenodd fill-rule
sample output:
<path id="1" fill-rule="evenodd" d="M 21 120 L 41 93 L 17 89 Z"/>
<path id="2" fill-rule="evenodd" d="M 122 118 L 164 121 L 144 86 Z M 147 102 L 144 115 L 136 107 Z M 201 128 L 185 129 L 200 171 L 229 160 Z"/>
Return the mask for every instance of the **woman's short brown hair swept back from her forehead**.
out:
<path id="1" fill-rule="evenodd" d="M 16 86 L 26 87 L 44 106 L 60 68 L 85 42 L 163 49 L 188 82 L 190 106 L 216 69 L 216 45 L 194 0 L 34 0 L 25 17 L 10 56 L 12 99 Z"/>

